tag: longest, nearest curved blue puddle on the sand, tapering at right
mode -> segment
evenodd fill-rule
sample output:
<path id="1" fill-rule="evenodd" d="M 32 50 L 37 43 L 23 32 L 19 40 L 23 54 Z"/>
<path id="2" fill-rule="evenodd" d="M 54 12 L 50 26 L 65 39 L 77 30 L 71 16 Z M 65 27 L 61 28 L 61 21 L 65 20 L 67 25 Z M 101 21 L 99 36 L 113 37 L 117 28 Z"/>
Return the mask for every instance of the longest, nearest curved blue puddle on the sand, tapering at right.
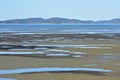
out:
<path id="1" fill-rule="evenodd" d="M 59 67 L 45 67 L 45 68 L 24 68 L 24 69 L 10 69 L 0 70 L 0 74 L 21 74 L 21 73 L 43 73 L 43 72 L 112 72 L 112 70 L 105 70 L 101 68 L 59 68 Z"/>

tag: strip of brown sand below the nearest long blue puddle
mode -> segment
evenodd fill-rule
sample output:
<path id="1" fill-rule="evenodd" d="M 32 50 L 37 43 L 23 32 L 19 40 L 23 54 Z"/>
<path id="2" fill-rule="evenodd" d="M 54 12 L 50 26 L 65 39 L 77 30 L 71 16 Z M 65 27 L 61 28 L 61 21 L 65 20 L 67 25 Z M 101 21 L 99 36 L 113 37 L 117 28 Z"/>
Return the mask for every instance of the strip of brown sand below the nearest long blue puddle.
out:
<path id="1" fill-rule="evenodd" d="M 19 80 L 119 80 L 119 77 L 100 76 L 89 74 L 74 73 L 37 73 L 37 74 L 20 74 L 5 75 L 3 77 L 17 78 Z"/>

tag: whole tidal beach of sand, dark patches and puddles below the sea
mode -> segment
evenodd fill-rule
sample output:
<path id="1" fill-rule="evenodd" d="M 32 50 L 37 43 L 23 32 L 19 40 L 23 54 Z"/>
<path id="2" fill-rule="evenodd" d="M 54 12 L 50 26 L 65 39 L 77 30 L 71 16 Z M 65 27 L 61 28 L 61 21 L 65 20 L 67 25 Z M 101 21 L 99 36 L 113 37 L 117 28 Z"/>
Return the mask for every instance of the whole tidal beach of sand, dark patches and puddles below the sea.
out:
<path id="1" fill-rule="evenodd" d="M 20 74 L 6 73 L 0 77 L 16 80 L 118 80 L 119 39 L 119 34 L 2 33 L 0 70 L 57 67 L 100 68 L 111 71 L 33 71 Z"/>

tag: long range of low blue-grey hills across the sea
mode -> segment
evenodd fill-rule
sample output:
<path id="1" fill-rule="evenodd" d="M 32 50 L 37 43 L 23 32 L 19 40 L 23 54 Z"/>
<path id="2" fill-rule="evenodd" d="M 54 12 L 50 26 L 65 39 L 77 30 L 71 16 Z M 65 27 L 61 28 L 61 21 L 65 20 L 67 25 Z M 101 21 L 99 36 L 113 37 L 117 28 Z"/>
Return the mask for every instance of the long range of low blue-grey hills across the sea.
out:
<path id="1" fill-rule="evenodd" d="M 26 18 L 26 19 L 11 19 L 0 21 L 0 24 L 120 24 L 120 18 L 115 18 L 111 20 L 78 20 L 78 19 L 68 19 L 53 17 L 48 19 L 43 18 Z"/>

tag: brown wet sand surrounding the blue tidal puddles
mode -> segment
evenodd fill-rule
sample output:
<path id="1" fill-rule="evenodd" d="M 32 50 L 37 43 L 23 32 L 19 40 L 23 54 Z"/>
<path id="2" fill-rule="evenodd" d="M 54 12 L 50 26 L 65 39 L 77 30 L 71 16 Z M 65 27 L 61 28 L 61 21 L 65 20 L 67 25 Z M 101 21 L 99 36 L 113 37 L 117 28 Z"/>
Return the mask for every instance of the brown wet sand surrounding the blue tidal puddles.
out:
<path id="1" fill-rule="evenodd" d="M 22 36 L 22 35 L 20 35 Z M 29 35 L 31 36 L 31 35 Z M 37 35 L 41 36 L 41 35 Z M 50 36 L 50 35 L 49 35 Z M 52 36 L 52 35 L 51 35 Z M 57 38 L 62 36 L 54 35 Z M 74 35 L 75 36 L 75 35 Z M 78 35 L 76 35 L 78 36 Z M 66 50 L 70 51 L 67 54 L 70 54 L 69 57 L 46 57 L 45 55 L 41 56 L 39 54 L 33 55 L 0 55 L 0 70 L 7 70 L 7 69 L 20 69 L 20 68 L 42 68 L 42 67 L 80 67 L 80 68 L 102 68 L 107 70 L 112 70 L 113 72 L 110 73 L 102 73 L 102 75 L 97 74 L 94 72 L 84 73 L 84 72 L 60 72 L 60 73 L 26 73 L 26 74 L 5 74 L 0 75 L 0 78 L 12 78 L 18 80 L 119 80 L 120 79 L 120 41 L 119 38 L 113 37 L 110 38 L 86 38 L 86 39 L 79 39 L 73 37 L 73 35 L 64 35 L 65 38 L 60 38 L 60 40 L 52 40 L 52 37 L 49 38 L 40 38 L 43 41 L 34 41 L 33 35 L 32 38 L 28 39 L 21 39 L 19 36 L 19 40 L 16 40 L 18 37 L 12 36 L 11 38 L 15 40 L 7 40 L 4 39 L 1 42 L 1 45 L 91 45 L 84 48 L 78 47 L 55 47 L 54 49 L 57 50 Z M 51 39 L 48 41 L 44 41 L 46 39 Z M 32 40 L 32 41 L 31 41 Z M 6 44 L 4 44 L 4 43 Z M 23 43 L 24 42 L 24 43 Z M 93 48 L 93 47 L 103 47 L 103 48 Z M 107 49 L 105 47 L 110 47 Z M 47 49 L 47 50 L 51 50 Z M 9 49 L 0 49 L 0 52 L 39 52 L 45 50 L 9 50 Z M 72 57 L 74 52 L 81 52 L 85 53 L 83 57 Z M 53 52 L 52 52 L 53 53 Z M 54 52 L 55 53 L 55 52 Z M 58 53 L 58 52 L 57 52 Z M 46 54 L 51 54 L 50 52 Z M 75 55 L 75 54 L 74 54 Z M 78 54 L 77 54 L 78 55 Z M 39 56 L 39 57 L 35 57 Z"/>

